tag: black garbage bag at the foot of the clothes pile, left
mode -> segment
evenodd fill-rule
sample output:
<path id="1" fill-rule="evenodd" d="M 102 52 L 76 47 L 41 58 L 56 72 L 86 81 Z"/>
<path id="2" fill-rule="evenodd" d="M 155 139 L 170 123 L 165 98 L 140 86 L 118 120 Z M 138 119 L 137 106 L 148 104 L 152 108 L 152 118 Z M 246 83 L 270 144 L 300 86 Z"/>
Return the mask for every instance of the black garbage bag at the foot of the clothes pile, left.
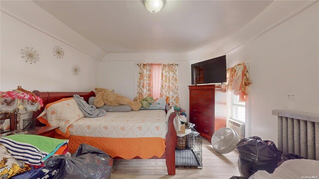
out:
<path id="1" fill-rule="evenodd" d="M 59 155 L 44 162 L 50 172 L 57 170 L 53 179 L 110 179 L 113 159 L 105 152 L 81 144 L 73 157 Z"/>

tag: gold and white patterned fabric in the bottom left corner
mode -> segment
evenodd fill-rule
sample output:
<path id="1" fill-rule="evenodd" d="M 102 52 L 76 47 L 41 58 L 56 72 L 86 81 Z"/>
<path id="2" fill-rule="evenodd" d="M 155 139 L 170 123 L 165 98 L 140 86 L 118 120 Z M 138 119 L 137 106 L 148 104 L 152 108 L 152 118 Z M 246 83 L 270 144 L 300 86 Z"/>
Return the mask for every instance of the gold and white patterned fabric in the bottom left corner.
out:
<path id="1" fill-rule="evenodd" d="M 6 150 L 6 148 L 0 144 L 0 178 L 8 179 L 17 174 L 31 170 L 31 168 L 15 160 L 11 154 Z"/>

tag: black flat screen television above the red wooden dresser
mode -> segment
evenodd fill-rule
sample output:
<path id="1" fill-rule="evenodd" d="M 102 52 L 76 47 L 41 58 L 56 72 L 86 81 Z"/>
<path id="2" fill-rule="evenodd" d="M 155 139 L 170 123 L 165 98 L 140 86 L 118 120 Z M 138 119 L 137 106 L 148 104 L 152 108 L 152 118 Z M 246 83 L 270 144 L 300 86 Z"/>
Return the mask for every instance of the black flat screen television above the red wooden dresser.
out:
<path id="1" fill-rule="evenodd" d="M 224 83 L 226 71 L 226 55 L 191 64 L 191 84 Z"/>

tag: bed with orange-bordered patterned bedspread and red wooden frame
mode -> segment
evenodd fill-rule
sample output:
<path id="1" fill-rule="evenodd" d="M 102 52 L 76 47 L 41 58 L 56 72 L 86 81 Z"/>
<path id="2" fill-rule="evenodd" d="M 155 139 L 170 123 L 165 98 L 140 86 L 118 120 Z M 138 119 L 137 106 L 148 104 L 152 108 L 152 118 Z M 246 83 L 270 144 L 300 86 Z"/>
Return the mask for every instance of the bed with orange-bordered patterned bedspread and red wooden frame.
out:
<path id="1" fill-rule="evenodd" d="M 94 91 L 40 92 L 34 90 L 33 93 L 38 95 L 44 104 L 40 110 L 33 112 L 34 118 L 42 113 L 44 106 L 48 103 L 73 97 L 74 94 L 80 95 L 87 102 L 91 96 L 95 96 Z M 103 117 L 80 118 L 69 126 L 69 135 L 56 135 L 55 137 L 67 137 L 71 153 L 75 152 L 81 143 L 86 143 L 105 151 L 113 158 L 165 159 L 168 175 L 175 175 L 175 146 L 177 143 L 173 125 L 175 116 L 176 113 L 171 113 L 166 123 L 166 113 L 163 110 L 108 112 Z M 139 124 L 143 125 L 139 126 Z M 36 125 L 43 124 L 37 120 Z M 126 132 L 124 134 L 121 131 L 116 132 L 115 128 Z M 145 130 L 149 128 L 150 130 Z M 103 131 L 108 132 L 103 133 Z"/>

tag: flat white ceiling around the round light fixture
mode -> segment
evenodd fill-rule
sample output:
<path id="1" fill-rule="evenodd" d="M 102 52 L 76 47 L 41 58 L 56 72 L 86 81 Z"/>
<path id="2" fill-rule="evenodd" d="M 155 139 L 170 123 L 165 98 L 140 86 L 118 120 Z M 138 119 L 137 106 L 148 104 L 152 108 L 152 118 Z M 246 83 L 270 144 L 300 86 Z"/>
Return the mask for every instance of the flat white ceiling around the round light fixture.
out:
<path id="1" fill-rule="evenodd" d="M 165 0 L 157 13 L 143 0 L 34 0 L 106 53 L 189 53 L 214 49 L 271 0 Z"/>

